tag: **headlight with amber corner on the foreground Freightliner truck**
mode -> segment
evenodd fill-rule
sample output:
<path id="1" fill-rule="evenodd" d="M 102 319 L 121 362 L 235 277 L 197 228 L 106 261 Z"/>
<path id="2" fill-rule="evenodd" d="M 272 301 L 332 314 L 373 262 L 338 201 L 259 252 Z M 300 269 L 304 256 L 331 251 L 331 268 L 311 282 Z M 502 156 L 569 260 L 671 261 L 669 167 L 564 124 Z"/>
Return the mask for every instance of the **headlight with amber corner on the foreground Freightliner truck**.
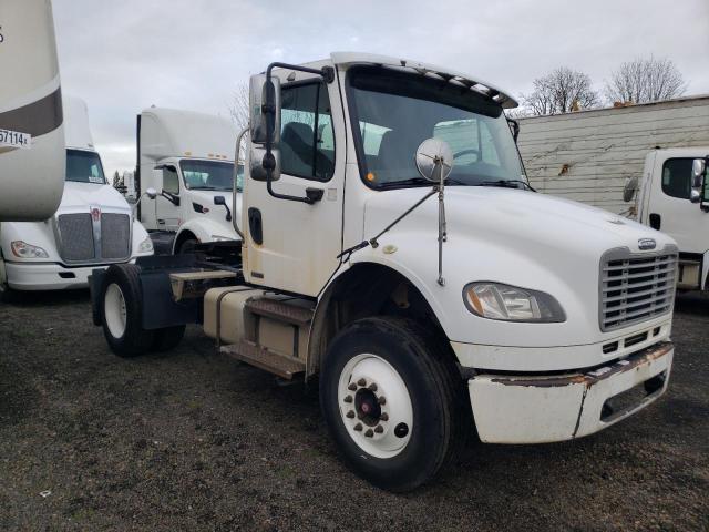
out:
<path id="1" fill-rule="evenodd" d="M 503 321 L 566 321 L 564 309 L 548 294 L 500 283 L 470 283 L 463 300 L 476 316 Z"/>

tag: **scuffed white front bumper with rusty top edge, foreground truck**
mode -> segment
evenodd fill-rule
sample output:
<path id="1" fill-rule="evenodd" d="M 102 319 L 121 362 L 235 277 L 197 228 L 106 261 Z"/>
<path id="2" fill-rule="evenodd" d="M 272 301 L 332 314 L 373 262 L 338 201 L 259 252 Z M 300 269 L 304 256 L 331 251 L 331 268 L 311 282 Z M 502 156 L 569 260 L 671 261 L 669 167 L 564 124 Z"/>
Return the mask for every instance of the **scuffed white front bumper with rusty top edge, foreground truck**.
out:
<path id="1" fill-rule="evenodd" d="M 674 351 L 661 341 L 585 372 L 476 375 L 467 388 L 480 439 L 544 443 L 603 430 L 665 392 Z"/>

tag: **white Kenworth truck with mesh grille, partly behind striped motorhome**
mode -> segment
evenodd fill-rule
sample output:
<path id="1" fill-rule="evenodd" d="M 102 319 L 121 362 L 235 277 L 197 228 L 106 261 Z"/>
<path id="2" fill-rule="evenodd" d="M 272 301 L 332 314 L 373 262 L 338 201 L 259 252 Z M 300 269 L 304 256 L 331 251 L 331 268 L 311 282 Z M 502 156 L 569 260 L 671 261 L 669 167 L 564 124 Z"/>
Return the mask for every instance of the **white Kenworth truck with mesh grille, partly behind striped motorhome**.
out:
<path id="1" fill-rule="evenodd" d="M 96 266 L 151 255 L 150 236 L 104 176 L 94 150 L 86 104 L 64 98 L 64 193 L 43 222 L 7 222 L 0 234 L 0 295 L 12 290 L 85 288 Z"/>

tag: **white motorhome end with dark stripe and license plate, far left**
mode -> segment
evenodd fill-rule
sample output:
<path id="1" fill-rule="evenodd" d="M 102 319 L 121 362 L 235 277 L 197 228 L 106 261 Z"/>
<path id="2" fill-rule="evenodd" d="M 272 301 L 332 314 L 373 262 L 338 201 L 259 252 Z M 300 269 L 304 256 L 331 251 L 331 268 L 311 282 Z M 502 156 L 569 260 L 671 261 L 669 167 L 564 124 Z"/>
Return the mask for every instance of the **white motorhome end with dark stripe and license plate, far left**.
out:
<path id="1" fill-rule="evenodd" d="M 45 219 L 64 187 L 51 2 L 3 0 L 0 27 L 0 222 Z"/>

